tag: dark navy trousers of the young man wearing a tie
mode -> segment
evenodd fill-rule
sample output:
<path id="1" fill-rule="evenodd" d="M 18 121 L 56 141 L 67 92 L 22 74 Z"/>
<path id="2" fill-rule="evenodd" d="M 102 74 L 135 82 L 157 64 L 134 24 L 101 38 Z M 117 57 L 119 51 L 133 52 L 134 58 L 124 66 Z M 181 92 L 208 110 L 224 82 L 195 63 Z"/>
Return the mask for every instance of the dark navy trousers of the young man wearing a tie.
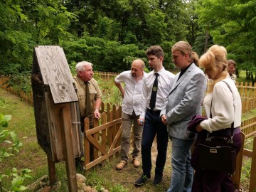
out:
<path id="1" fill-rule="evenodd" d="M 155 174 L 162 174 L 166 163 L 168 133 L 166 125 L 160 120 L 159 113 L 146 110 L 144 128 L 142 132 L 142 169 L 143 174 L 151 176 L 151 146 L 156 136 L 157 156 Z"/>

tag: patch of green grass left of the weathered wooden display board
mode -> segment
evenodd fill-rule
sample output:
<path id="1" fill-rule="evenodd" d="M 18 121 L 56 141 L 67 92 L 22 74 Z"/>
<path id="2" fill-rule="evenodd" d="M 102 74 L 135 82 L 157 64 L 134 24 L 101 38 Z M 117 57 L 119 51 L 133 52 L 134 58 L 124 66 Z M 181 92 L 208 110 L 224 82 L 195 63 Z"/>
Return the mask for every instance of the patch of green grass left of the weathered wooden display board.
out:
<path id="1" fill-rule="evenodd" d="M 21 102 L 18 97 L 9 95 L 6 97 L 6 92 L 0 89 L 0 112 L 1 114 L 11 114 L 11 121 L 8 129 L 14 130 L 20 138 L 23 146 L 18 154 L 10 156 L 0 162 L 1 174 L 11 170 L 12 167 L 17 169 L 31 169 L 32 176 L 38 171 L 46 169 L 47 159 L 41 147 L 36 142 L 36 127 L 33 118 L 33 107 Z M 40 161 L 38 161 L 40 160 Z M 47 172 L 45 172 L 47 174 Z M 2 181 L 5 188 L 11 186 L 9 181 Z M 25 183 L 30 183 L 26 181 Z"/>

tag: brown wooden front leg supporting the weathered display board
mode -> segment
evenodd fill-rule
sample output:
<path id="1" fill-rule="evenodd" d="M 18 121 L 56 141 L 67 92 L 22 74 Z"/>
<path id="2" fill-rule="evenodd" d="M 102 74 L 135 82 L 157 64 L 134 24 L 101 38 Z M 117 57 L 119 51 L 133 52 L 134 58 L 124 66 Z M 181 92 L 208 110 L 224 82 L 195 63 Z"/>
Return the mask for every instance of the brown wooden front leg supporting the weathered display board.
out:
<path id="1" fill-rule="evenodd" d="M 60 110 L 60 127 L 63 137 L 65 166 L 68 178 L 68 191 L 78 191 L 78 183 L 75 172 L 75 156 L 73 152 L 71 119 L 70 119 L 70 105 L 65 105 Z"/>

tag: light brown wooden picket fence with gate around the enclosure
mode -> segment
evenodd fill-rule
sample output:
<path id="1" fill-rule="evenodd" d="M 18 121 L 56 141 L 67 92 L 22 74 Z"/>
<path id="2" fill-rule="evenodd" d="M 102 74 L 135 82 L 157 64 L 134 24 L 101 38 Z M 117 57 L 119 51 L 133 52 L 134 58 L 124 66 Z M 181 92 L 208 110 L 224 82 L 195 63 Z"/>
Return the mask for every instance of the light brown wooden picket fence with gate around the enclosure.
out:
<path id="1" fill-rule="evenodd" d="M 98 73 L 102 75 L 102 78 L 109 79 L 114 75 L 111 73 Z M 9 80 L 8 77 L 0 77 L 0 87 L 4 90 L 14 93 L 21 97 L 21 100 L 31 103 L 33 105 L 32 92 L 16 92 L 13 87 L 7 87 L 5 84 Z M 237 82 L 236 86 L 242 97 L 242 112 L 247 112 L 256 108 L 256 83 L 252 86 L 252 83 Z M 95 128 L 89 129 L 89 119 L 85 118 L 85 170 L 89 170 L 97 164 L 105 164 L 106 161 L 111 161 L 113 156 L 117 154 L 120 149 L 120 139 L 122 132 L 122 107 L 110 105 L 102 102 L 100 109 L 102 118 L 100 121 L 95 121 Z M 256 134 L 256 117 L 248 119 L 241 124 L 242 133 L 247 137 Z M 131 141 L 132 142 L 132 141 Z M 90 161 L 90 143 L 94 146 L 93 149 L 93 161 Z M 233 176 L 233 180 L 237 188 L 240 186 L 240 176 L 243 156 L 247 156 L 252 159 L 251 170 L 256 169 L 256 137 L 253 140 L 252 151 L 243 149 L 240 151 L 238 156 L 237 173 Z M 256 173 L 251 171 L 250 173 L 250 192 L 256 189 Z"/>

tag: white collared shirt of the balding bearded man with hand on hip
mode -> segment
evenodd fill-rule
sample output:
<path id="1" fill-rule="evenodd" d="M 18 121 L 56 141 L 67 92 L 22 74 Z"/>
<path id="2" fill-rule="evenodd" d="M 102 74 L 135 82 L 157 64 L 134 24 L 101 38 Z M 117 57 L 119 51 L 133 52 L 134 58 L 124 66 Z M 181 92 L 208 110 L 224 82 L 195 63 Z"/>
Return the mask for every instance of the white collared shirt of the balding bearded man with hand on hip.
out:
<path id="1" fill-rule="evenodd" d="M 124 82 L 124 99 L 122 101 L 122 112 L 132 115 L 134 111 L 136 115 L 142 112 L 142 85 L 144 82 L 143 78 L 138 82 L 132 77 L 130 70 L 124 71 L 117 75 L 114 79 L 115 82 Z"/>

